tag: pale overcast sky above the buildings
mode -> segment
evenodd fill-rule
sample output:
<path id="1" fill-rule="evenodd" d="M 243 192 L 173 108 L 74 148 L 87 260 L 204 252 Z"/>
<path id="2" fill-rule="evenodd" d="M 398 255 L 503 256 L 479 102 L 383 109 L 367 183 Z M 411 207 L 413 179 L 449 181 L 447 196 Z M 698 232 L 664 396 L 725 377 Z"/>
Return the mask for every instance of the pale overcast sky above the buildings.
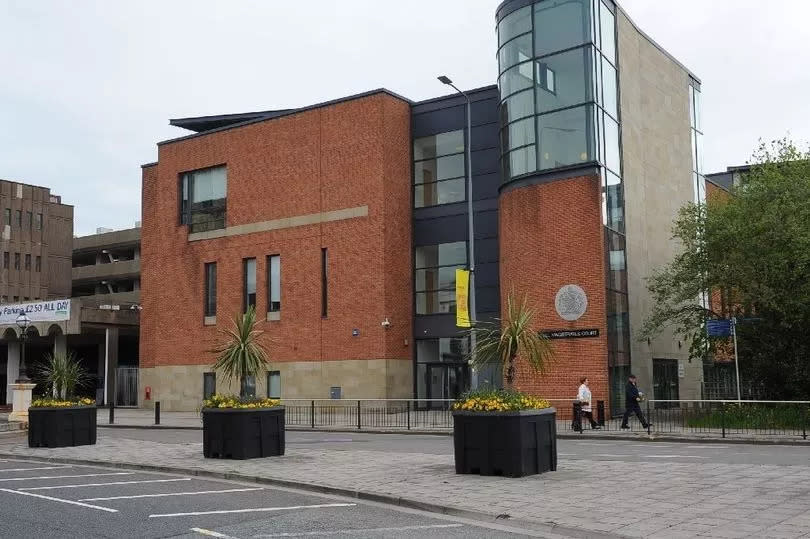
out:
<path id="1" fill-rule="evenodd" d="M 140 220 L 169 118 L 496 79 L 500 0 L 0 0 L 0 178 L 75 206 L 76 235 Z M 706 170 L 810 141 L 810 2 L 623 0 L 702 81 Z"/>

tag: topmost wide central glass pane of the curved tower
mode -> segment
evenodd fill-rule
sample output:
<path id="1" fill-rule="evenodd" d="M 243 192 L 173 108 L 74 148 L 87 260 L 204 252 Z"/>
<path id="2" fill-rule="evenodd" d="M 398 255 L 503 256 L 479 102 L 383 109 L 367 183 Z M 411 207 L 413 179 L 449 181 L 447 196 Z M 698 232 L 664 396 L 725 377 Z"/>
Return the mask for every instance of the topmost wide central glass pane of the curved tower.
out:
<path id="1" fill-rule="evenodd" d="M 591 40 L 590 0 L 546 0 L 534 5 L 534 54 L 544 56 Z"/>

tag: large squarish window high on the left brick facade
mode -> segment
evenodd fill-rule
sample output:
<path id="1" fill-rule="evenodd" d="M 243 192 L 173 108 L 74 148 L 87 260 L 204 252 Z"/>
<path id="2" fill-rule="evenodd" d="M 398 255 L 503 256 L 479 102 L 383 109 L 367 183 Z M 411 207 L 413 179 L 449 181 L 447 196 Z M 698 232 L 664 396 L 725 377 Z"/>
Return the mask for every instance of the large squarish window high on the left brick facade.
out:
<path id="1" fill-rule="evenodd" d="M 225 228 L 227 168 L 186 172 L 180 183 L 180 224 L 192 233 Z"/>

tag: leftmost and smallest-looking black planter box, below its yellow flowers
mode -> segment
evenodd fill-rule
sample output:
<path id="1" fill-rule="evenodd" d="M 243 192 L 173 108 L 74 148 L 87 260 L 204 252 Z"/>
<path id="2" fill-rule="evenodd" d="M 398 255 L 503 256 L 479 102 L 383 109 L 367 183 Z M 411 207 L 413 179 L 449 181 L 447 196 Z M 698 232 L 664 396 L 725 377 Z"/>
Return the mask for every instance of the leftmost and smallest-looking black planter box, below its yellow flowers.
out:
<path id="1" fill-rule="evenodd" d="M 28 447 L 72 447 L 95 443 L 95 406 L 28 409 Z"/>

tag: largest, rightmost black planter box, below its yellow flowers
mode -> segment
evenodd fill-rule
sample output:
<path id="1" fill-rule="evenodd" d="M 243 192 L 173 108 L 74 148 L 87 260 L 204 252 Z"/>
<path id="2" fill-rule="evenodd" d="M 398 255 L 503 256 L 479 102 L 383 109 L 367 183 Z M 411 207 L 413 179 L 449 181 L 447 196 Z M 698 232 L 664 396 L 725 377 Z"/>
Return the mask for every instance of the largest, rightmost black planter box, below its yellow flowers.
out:
<path id="1" fill-rule="evenodd" d="M 523 477 L 557 469 L 557 412 L 453 412 L 456 473 Z"/>

